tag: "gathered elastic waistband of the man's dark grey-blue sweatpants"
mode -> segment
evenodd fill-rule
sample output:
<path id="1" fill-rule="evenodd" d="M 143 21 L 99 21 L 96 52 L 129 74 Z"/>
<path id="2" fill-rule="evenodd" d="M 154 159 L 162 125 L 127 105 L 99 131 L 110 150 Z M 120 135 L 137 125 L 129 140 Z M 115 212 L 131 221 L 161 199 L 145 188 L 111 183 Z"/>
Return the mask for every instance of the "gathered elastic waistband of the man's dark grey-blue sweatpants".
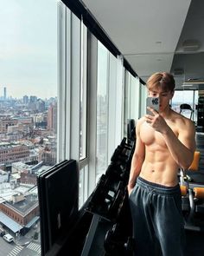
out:
<path id="1" fill-rule="evenodd" d="M 179 184 L 177 184 L 175 187 L 168 187 L 168 186 L 163 186 L 150 181 L 146 181 L 141 177 L 137 177 L 137 185 L 139 185 L 140 187 L 146 188 L 151 192 L 155 191 L 158 194 L 166 194 L 166 195 L 181 194 L 181 189 Z"/>

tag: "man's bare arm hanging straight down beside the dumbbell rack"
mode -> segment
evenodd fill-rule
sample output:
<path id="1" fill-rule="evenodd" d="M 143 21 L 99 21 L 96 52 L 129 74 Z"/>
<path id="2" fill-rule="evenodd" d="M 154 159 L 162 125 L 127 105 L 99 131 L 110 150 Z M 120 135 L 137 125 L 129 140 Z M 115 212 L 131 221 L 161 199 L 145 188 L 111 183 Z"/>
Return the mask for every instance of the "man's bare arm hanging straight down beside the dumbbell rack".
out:
<path id="1" fill-rule="evenodd" d="M 143 141 L 141 141 L 141 138 L 140 138 L 140 132 L 139 132 L 140 125 L 141 125 L 141 120 L 137 122 L 137 127 L 136 127 L 136 147 L 131 160 L 131 172 L 130 172 L 130 178 L 129 178 L 128 187 L 127 187 L 129 194 L 131 193 L 131 190 L 136 184 L 137 176 L 141 171 L 141 167 L 143 165 L 143 160 L 144 160 L 144 154 L 145 154 L 145 147 L 144 147 Z"/>

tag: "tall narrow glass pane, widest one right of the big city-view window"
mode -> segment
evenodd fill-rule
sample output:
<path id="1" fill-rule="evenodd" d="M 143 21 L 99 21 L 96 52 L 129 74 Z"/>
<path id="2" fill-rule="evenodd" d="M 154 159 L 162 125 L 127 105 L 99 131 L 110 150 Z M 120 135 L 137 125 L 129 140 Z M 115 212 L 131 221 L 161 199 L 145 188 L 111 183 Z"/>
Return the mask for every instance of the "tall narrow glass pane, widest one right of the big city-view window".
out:
<path id="1" fill-rule="evenodd" d="M 98 82 L 97 82 L 97 180 L 107 167 L 107 125 L 108 95 L 107 69 L 108 51 L 103 44 L 98 44 Z"/>

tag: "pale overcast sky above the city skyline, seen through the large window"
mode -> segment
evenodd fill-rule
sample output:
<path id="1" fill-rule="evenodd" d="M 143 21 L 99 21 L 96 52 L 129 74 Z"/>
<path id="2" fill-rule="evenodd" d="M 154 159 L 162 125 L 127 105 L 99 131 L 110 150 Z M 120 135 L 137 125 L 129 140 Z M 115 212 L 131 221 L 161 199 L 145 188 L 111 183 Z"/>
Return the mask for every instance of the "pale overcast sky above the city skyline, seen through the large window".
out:
<path id="1" fill-rule="evenodd" d="M 57 0 L 0 0 L 0 96 L 57 95 Z"/>

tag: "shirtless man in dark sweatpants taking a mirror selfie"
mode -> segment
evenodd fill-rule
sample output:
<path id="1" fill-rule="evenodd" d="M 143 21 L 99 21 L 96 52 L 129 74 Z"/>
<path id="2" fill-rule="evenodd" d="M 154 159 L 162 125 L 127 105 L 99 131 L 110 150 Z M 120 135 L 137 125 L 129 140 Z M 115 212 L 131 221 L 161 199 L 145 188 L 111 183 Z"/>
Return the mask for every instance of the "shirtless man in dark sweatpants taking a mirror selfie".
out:
<path id="1" fill-rule="evenodd" d="M 147 82 L 149 96 L 159 97 L 159 112 L 137 121 L 136 148 L 128 192 L 136 255 L 183 255 L 185 246 L 178 169 L 187 169 L 195 150 L 194 123 L 169 107 L 175 80 L 156 73 Z"/>

